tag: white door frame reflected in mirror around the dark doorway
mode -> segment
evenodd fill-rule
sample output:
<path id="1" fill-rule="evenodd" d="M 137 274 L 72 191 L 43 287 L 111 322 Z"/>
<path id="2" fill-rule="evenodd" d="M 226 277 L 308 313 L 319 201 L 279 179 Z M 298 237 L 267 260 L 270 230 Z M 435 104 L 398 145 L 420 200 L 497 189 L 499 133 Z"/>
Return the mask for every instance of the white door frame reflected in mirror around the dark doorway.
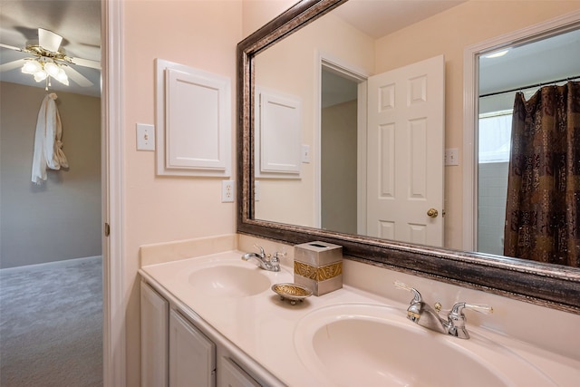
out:
<path id="1" fill-rule="evenodd" d="M 314 227 L 322 227 L 322 71 L 357 82 L 357 230 L 366 230 L 366 80 L 371 75 L 331 53 L 316 52 L 314 69 Z M 361 219 L 363 217 L 363 219 Z M 363 226 L 363 228 L 361 228 Z"/>

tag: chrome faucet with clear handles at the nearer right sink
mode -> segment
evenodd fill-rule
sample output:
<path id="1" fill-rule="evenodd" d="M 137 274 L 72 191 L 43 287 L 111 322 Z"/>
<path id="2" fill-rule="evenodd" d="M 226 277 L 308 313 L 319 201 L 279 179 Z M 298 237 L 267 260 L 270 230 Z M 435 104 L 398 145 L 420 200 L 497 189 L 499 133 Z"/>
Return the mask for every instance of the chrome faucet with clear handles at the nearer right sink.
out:
<path id="1" fill-rule="evenodd" d="M 407 308 L 407 318 L 415 324 L 419 324 L 440 334 L 450 334 L 460 339 L 469 339 L 469 333 L 465 328 L 466 319 L 465 314 L 463 314 L 463 309 L 471 309 L 485 314 L 493 313 L 493 308 L 488 305 L 457 303 L 449 311 L 447 319 L 444 319 L 439 314 L 441 309 L 440 303 L 435 304 L 433 308 L 423 302 L 417 289 L 399 281 L 395 281 L 395 286 L 408 290 L 413 294 L 411 305 Z"/>

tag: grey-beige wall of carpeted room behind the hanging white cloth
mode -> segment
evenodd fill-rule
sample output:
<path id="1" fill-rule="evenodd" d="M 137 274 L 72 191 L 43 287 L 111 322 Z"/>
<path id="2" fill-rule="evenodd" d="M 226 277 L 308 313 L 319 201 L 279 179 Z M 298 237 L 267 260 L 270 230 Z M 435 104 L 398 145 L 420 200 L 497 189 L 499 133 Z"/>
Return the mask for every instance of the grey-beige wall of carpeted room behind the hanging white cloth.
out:
<path id="1" fill-rule="evenodd" d="M 43 88 L 0 82 L 0 267 L 100 256 L 101 99 L 57 92 L 70 168 L 31 181 Z"/>

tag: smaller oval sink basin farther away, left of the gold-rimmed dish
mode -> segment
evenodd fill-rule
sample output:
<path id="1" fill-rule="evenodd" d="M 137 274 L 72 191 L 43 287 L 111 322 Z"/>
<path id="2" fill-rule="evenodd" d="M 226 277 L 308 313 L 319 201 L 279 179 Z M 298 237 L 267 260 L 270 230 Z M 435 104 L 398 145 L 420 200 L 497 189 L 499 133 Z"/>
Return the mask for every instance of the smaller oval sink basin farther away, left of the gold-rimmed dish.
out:
<path id="1" fill-rule="evenodd" d="M 218 265 L 201 268 L 189 275 L 189 284 L 201 294 L 221 297 L 257 295 L 272 285 L 255 266 Z"/>

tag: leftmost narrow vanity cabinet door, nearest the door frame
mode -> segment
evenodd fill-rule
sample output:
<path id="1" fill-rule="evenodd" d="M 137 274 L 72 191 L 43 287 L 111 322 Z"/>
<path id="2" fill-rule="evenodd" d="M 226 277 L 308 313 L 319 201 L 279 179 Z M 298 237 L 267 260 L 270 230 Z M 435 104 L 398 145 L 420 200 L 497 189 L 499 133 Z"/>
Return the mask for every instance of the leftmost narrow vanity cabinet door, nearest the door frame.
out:
<path id="1" fill-rule="evenodd" d="M 169 303 L 141 282 L 141 386 L 167 387 Z"/>

